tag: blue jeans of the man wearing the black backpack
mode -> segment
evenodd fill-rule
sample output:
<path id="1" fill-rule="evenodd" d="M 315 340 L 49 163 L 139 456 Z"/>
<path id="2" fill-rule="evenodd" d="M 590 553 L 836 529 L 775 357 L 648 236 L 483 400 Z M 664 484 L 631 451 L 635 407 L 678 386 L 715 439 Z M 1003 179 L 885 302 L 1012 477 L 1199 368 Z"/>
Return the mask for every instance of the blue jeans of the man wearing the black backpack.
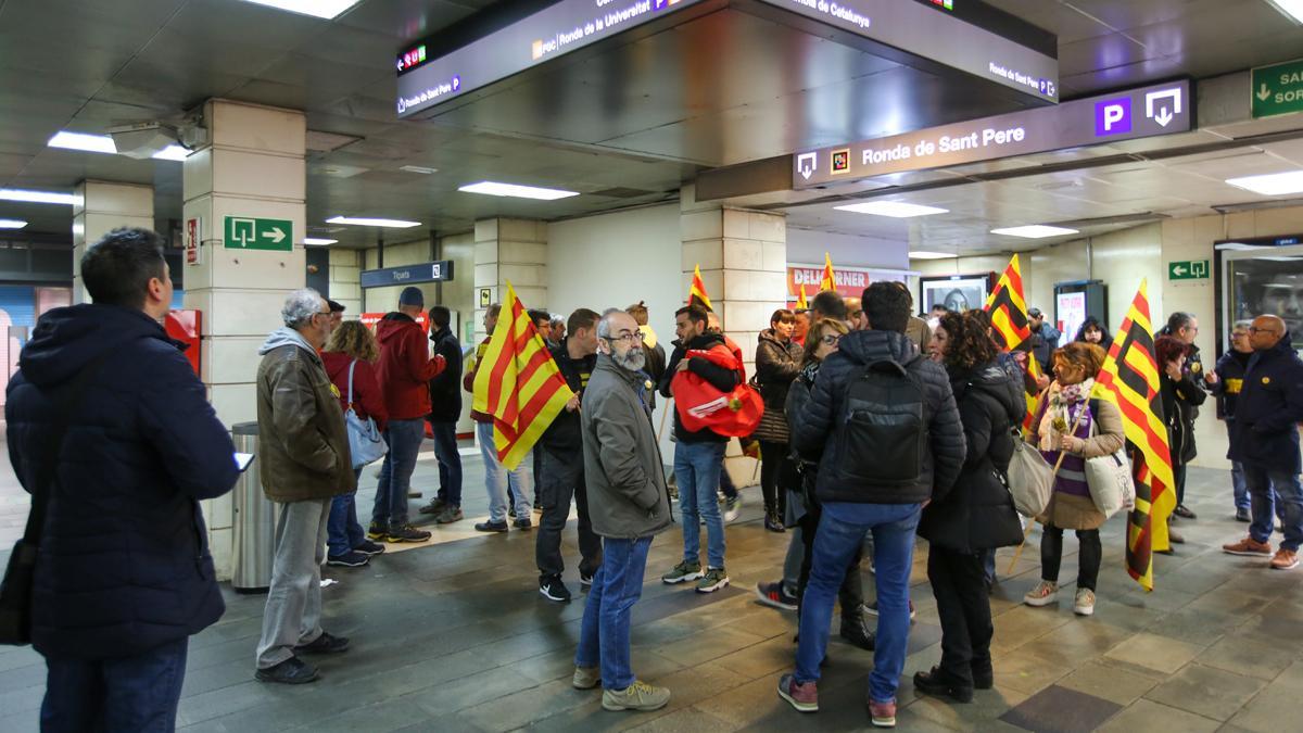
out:
<path id="1" fill-rule="evenodd" d="M 680 489 L 681 490 L 681 489 Z M 864 535 L 873 533 L 874 580 L 878 590 L 878 638 L 869 674 L 869 699 L 895 699 L 909 642 L 909 569 L 913 532 L 921 503 L 846 503 L 830 501 L 814 537 L 814 562 L 801 601 L 801 639 L 796 647 L 796 681 L 814 682 L 827 650 L 833 600 L 846 578 L 846 567 Z"/>

